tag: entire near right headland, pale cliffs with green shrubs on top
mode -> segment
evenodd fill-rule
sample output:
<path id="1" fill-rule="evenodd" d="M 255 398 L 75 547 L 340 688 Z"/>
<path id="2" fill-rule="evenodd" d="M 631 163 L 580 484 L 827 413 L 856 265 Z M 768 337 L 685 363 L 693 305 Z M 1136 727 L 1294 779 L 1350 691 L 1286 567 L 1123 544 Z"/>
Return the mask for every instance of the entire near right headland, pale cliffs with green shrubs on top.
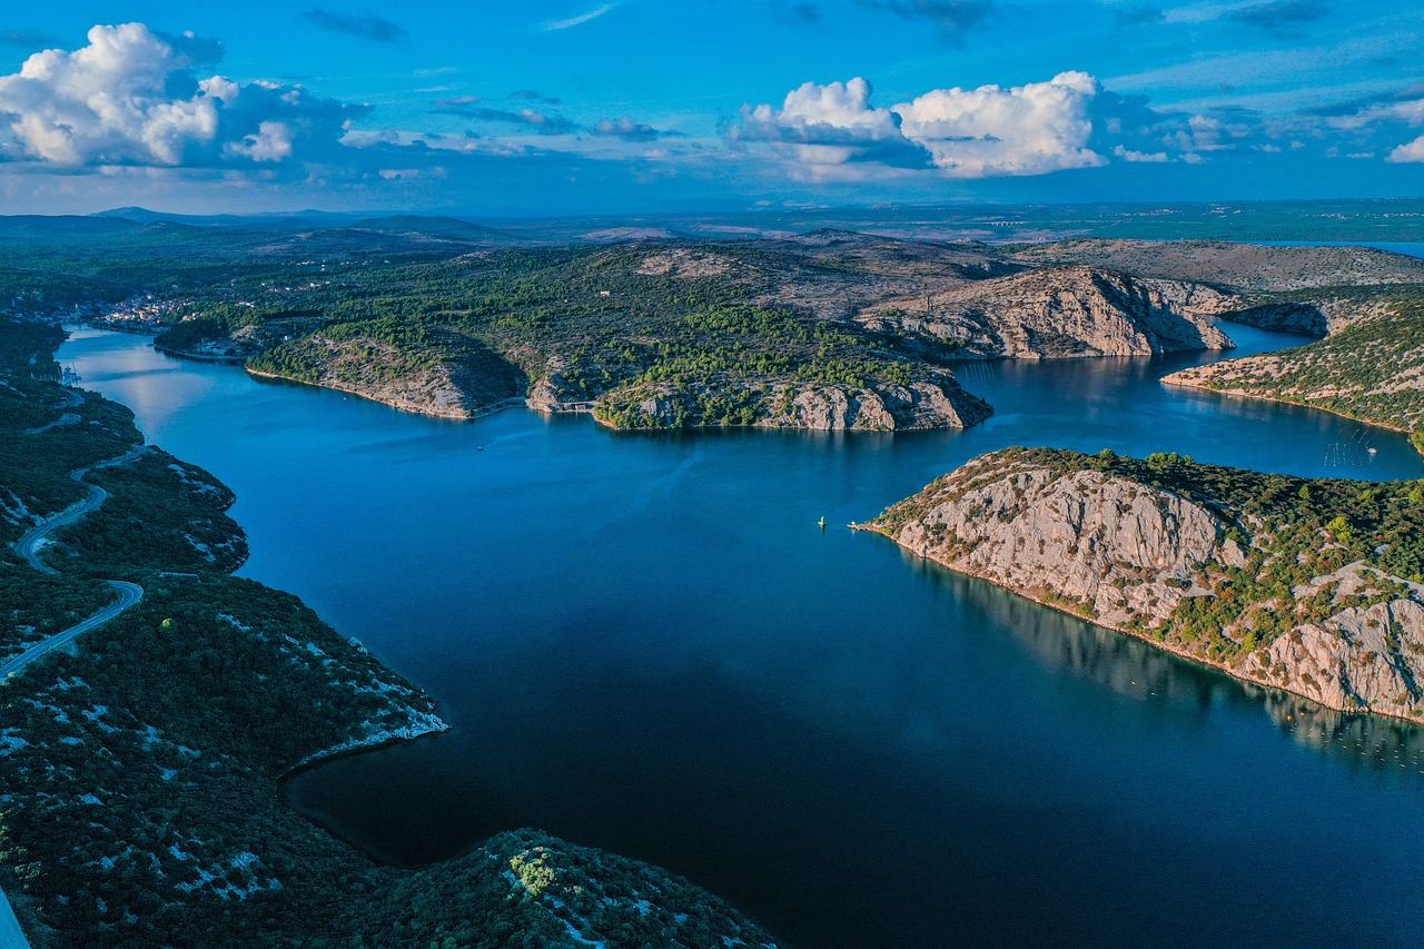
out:
<path id="1" fill-rule="evenodd" d="M 1237 678 L 1424 720 L 1421 502 L 1408 483 L 1005 449 L 860 527 Z"/>

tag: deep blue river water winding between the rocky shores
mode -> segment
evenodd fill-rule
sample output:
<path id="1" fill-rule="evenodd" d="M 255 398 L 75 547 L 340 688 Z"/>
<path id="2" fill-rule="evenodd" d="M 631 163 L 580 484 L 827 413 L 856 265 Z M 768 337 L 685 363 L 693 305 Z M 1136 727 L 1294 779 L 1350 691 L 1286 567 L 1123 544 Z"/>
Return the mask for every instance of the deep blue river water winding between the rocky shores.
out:
<path id="1" fill-rule="evenodd" d="M 1226 329 L 1233 355 L 1303 342 Z M 431 420 L 135 336 L 60 352 L 238 492 L 245 576 L 440 700 L 451 732 L 286 788 L 387 861 L 538 826 L 802 949 L 1414 945 L 1420 730 L 843 527 L 1005 445 L 1424 476 L 1397 433 L 1158 382 L 1213 358 L 967 365 L 997 409 L 967 432 L 629 435 Z"/>

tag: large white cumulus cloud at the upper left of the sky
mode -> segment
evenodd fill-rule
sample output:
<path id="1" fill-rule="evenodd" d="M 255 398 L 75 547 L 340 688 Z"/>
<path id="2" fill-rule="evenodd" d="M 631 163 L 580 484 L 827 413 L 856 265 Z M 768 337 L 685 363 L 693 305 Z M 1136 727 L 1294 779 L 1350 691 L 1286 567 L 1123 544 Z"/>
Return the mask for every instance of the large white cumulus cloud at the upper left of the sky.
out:
<path id="1" fill-rule="evenodd" d="M 239 84 L 197 68 L 221 46 L 141 23 L 95 26 L 73 53 L 0 76 L 0 158 L 53 165 L 282 162 L 336 147 L 362 107 L 300 85 Z"/>

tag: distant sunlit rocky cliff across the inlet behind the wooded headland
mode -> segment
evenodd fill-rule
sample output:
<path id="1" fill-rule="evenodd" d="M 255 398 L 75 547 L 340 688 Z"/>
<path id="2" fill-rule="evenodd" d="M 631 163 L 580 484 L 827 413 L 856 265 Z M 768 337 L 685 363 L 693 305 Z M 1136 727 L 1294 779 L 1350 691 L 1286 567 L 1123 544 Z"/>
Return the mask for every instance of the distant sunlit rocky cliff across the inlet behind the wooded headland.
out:
<path id="1" fill-rule="evenodd" d="M 877 332 L 953 343 L 964 358 L 1146 356 L 1230 349 L 1209 318 L 1242 306 L 1200 284 L 1067 266 L 887 301 L 859 319 Z"/>

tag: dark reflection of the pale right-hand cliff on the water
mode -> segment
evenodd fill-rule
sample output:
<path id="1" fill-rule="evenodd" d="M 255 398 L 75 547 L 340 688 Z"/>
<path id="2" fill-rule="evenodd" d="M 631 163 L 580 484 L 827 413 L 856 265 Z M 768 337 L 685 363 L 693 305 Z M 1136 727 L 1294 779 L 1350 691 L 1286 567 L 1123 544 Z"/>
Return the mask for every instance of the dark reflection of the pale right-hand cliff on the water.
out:
<path id="1" fill-rule="evenodd" d="M 1180 660 L 1142 640 L 1119 636 L 1031 603 L 974 577 L 951 573 L 901 550 L 916 570 L 937 574 L 956 598 L 971 600 L 1044 668 L 1067 670 L 1114 693 L 1205 715 L 1212 707 L 1262 707 L 1294 741 L 1356 771 L 1414 778 L 1424 774 L 1424 728 L 1397 718 L 1351 714 L 1276 688 L 1242 683 Z"/>

